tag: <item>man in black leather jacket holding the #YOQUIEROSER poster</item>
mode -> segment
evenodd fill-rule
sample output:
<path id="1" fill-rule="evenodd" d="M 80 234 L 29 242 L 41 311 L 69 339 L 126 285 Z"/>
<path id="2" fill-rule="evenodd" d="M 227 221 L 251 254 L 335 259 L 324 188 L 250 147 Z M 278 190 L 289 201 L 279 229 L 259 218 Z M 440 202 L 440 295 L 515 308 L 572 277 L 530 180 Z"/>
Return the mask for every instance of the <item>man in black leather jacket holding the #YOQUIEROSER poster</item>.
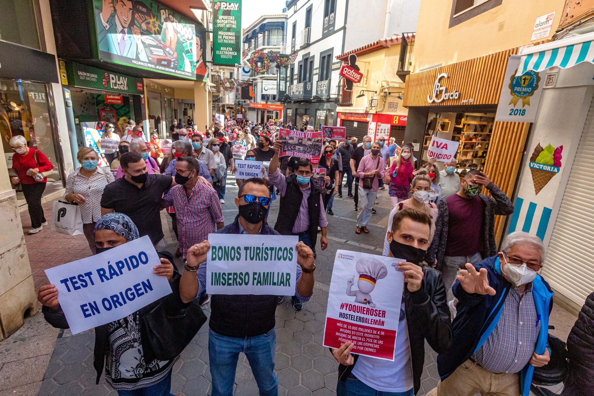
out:
<path id="1" fill-rule="evenodd" d="M 425 362 L 425 340 L 438 353 L 450 349 L 453 332 L 450 310 L 445 298 L 441 274 L 419 266 L 431 242 L 431 218 L 415 209 L 403 209 L 394 215 L 388 231 L 388 257 L 400 262 L 405 287 L 400 305 L 400 322 L 396 334 L 394 362 L 350 354 L 351 342 L 332 350 L 340 363 L 337 396 L 375 394 L 377 391 L 413 395 L 421 387 Z"/>

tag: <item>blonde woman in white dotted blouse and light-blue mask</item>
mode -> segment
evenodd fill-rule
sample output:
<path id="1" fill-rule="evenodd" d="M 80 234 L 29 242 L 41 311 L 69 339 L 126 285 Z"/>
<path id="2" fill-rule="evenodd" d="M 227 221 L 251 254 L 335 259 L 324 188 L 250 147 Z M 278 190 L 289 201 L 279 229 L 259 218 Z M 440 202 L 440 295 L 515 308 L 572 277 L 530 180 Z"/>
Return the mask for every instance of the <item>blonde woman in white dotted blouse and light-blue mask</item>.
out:
<path id="1" fill-rule="evenodd" d="M 115 180 L 112 172 L 97 166 L 99 155 L 90 147 L 81 147 L 76 158 L 82 164 L 66 179 L 64 199 L 76 202 L 83 217 L 83 232 L 95 254 L 95 222 L 101 217 L 101 196 L 103 188 Z"/>

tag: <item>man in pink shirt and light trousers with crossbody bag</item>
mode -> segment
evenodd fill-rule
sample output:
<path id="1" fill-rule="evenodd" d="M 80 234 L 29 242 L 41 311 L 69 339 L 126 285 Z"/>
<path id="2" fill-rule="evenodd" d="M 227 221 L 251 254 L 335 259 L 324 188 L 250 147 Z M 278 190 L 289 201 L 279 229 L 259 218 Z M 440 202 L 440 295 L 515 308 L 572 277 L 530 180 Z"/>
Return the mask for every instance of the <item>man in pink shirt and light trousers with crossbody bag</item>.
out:
<path id="1" fill-rule="evenodd" d="M 359 178 L 359 207 L 363 208 L 357 216 L 356 234 L 369 233 L 367 223 L 371 219 L 371 209 L 375 205 L 375 197 L 377 197 L 377 190 L 380 188 L 380 179 L 384 177 L 384 170 L 386 162 L 380 156 L 380 143 L 374 142 L 371 144 L 371 153 L 364 156 L 359 162 L 356 177 Z M 371 188 L 363 188 L 366 177 L 372 177 L 373 183 Z"/>

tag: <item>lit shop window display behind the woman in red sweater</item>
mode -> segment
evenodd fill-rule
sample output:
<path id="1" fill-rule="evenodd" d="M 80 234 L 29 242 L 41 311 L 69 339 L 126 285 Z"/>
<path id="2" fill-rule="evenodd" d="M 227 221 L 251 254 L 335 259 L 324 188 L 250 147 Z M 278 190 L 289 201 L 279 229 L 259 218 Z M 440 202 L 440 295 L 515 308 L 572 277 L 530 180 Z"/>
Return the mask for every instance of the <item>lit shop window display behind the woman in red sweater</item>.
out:
<path id="1" fill-rule="evenodd" d="M 43 152 L 53 164 L 53 174 L 48 183 L 61 180 L 58 158 L 49 120 L 49 103 L 45 84 L 0 78 L 0 137 L 7 159 L 12 166 L 14 150 L 8 142 L 12 136 L 21 135 L 27 146 Z"/>

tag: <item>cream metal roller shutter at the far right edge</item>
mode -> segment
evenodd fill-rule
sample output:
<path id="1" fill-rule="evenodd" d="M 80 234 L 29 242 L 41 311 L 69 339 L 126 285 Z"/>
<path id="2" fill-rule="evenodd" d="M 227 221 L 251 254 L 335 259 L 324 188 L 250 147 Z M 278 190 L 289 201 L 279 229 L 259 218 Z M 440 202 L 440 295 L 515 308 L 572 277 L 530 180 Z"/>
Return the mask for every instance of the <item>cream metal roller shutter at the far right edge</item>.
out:
<path id="1" fill-rule="evenodd" d="M 551 287 L 582 306 L 594 291 L 594 100 L 586 118 L 576 158 L 555 227 L 542 276 Z"/>

